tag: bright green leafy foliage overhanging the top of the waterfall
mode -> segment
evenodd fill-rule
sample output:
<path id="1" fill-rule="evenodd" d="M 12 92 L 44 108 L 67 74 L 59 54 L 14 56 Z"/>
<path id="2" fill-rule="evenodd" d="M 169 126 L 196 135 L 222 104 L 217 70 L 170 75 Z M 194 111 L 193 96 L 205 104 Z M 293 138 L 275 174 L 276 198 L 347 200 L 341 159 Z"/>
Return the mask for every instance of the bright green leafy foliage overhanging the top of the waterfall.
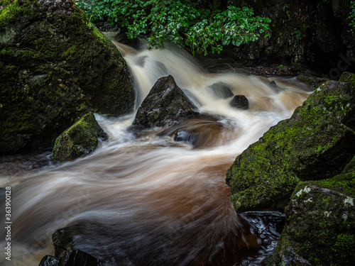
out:
<path id="1" fill-rule="evenodd" d="M 209 49 L 221 52 L 223 45 L 248 43 L 269 30 L 271 20 L 254 16 L 249 8 L 229 6 L 225 11 L 211 11 L 199 4 L 187 0 L 77 0 L 92 21 L 120 22 L 129 38 L 147 35 L 155 48 L 169 41 L 207 55 Z"/>

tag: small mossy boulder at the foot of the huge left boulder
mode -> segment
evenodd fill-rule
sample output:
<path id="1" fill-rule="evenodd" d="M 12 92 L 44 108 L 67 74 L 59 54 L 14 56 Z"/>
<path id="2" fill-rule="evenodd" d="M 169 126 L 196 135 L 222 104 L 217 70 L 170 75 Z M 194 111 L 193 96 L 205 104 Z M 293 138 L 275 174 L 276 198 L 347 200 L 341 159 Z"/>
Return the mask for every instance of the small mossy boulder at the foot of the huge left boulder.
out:
<path id="1" fill-rule="evenodd" d="M 98 138 L 106 139 L 107 134 L 97 123 L 94 113 L 88 113 L 55 140 L 53 160 L 58 162 L 74 160 L 90 153 L 97 147 Z"/>

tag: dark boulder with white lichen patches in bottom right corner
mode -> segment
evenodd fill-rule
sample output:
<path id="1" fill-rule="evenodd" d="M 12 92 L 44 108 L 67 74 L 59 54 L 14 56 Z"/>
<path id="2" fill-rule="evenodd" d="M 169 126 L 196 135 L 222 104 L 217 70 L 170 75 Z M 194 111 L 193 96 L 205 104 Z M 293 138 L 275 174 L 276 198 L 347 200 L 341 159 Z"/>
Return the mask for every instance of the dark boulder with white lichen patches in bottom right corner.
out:
<path id="1" fill-rule="evenodd" d="M 316 182 L 297 186 L 269 265 L 352 265 L 354 200 L 354 194 L 342 194 Z"/>

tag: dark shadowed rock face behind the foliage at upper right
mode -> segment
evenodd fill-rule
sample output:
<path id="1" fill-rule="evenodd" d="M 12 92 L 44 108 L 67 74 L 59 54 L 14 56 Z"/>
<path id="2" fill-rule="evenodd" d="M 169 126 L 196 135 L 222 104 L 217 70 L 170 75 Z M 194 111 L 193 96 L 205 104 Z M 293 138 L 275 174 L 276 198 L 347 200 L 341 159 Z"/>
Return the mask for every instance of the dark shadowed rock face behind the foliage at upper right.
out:
<path id="1" fill-rule="evenodd" d="M 337 79 L 344 70 L 354 71 L 355 31 L 349 26 L 350 1 L 233 0 L 249 6 L 259 16 L 271 18 L 271 35 L 235 48 L 237 60 L 320 68 Z M 334 68 L 334 69 L 333 69 Z"/>

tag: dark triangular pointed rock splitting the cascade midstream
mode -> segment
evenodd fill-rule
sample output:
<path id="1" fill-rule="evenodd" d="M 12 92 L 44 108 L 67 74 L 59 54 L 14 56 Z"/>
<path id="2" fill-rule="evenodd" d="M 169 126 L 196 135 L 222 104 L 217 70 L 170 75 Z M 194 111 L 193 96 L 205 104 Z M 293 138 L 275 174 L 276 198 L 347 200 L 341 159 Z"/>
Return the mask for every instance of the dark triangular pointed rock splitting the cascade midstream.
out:
<path id="1" fill-rule="evenodd" d="M 197 115 L 196 109 L 197 107 L 175 83 L 174 78 L 169 75 L 155 82 L 151 92 L 139 107 L 133 125 L 142 128 L 165 126 L 169 121 Z"/>

